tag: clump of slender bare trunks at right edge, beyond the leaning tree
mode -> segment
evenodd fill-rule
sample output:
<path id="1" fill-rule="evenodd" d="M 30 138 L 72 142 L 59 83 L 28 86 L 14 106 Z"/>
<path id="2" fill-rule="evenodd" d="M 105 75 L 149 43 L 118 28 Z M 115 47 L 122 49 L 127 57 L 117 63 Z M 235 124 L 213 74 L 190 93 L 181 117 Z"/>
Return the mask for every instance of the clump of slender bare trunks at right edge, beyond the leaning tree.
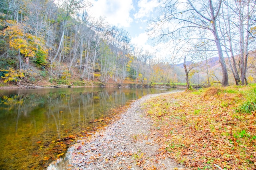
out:
<path id="1" fill-rule="evenodd" d="M 227 0 L 224 1 L 222 7 L 219 27 L 230 68 L 237 85 L 246 84 L 249 48 L 250 46 L 253 47 L 253 45 L 250 45 L 253 42 L 250 40 L 252 38 L 250 30 L 255 26 L 255 21 L 251 17 L 256 12 L 255 5 L 252 0 Z"/>

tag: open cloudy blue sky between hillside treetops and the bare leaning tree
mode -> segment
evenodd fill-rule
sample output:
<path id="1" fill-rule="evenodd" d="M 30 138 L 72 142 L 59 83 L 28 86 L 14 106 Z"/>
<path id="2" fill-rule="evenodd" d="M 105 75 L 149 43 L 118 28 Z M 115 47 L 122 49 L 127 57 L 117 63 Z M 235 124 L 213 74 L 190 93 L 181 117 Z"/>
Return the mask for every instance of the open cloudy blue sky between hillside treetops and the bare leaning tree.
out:
<path id="1" fill-rule="evenodd" d="M 93 6 L 88 13 L 102 16 L 110 25 L 123 28 L 130 34 L 131 43 L 160 55 L 160 47 L 148 41 L 148 22 L 156 16 L 158 0 L 91 0 Z M 161 52 L 161 55 L 163 52 Z M 158 56 L 159 57 L 159 56 Z"/>

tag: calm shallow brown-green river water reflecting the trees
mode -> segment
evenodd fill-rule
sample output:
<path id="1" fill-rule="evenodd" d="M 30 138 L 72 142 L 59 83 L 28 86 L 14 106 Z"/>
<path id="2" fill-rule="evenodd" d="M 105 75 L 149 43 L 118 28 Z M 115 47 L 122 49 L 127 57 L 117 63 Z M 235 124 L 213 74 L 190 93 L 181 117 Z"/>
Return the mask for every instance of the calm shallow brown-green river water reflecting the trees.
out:
<path id="1" fill-rule="evenodd" d="M 77 137 L 90 137 L 113 109 L 170 89 L 44 88 L 0 90 L 0 170 L 43 169 Z M 177 90 L 177 89 L 175 89 Z"/>

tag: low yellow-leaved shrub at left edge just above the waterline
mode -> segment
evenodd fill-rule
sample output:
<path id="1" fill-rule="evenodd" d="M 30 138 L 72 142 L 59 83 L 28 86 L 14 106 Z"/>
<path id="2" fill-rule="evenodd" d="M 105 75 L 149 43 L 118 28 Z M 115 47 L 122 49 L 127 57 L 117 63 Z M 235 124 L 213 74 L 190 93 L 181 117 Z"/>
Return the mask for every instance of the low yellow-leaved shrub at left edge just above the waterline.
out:
<path id="1" fill-rule="evenodd" d="M 19 70 L 13 70 L 10 68 L 9 70 L 0 70 L 0 71 L 5 71 L 7 73 L 4 74 L 4 76 L 1 76 L 2 78 L 5 78 L 4 83 L 14 81 L 14 82 L 19 82 L 20 78 L 24 77 L 23 72 L 20 72 Z"/>

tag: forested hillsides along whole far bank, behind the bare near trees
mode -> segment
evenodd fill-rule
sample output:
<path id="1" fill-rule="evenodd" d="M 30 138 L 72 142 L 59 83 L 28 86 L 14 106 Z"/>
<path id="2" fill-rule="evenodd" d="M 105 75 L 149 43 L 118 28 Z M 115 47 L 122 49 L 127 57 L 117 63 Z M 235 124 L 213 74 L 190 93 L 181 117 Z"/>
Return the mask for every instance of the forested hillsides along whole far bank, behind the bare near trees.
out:
<path id="1" fill-rule="evenodd" d="M 155 57 L 155 53 L 131 44 L 126 30 L 109 25 L 104 18 L 97 19 L 88 14 L 87 10 L 92 4 L 83 0 L 58 2 L 0 1 L 1 86 L 8 82 L 76 86 L 91 85 L 92 82 L 102 85 L 108 82 L 146 85 L 186 82 L 183 63 L 175 65 L 171 62 L 172 56 L 167 59 L 166 54 L 162 58 Z M 254 38 L 255 30 L 251 32 L 251 38 Z M 214 45 L 206 47 L 209 43 L 204 41 L 199 43 L 201 45 L 190 44 L 189 48 L 182 46 L 187 47 L 183 53 L 190 55 L 190 60 L 193 60 L 186 62 L 190 81 L 197 86 L 221 82 L 219 59 L 210 59 L 217 55 L 216 48 Z M 227 54 L 230 53 L 228 48 L 226 46 Z M 249 72 L 247 79 L 250 83 L 255 82 L 256 76 L 255 53 L 249 54 L 245 71 Z M 202 60 L 204 62 L 200 62 Z M 225 59 L 230 77 L 234 74 L 233 66 L 240 68 L 240 61 L 241 56 L 234 60 Z M 240 70 L 234 74 L 236 84 Z M 232 84 L 234 80 L 230 82 Z"/>

